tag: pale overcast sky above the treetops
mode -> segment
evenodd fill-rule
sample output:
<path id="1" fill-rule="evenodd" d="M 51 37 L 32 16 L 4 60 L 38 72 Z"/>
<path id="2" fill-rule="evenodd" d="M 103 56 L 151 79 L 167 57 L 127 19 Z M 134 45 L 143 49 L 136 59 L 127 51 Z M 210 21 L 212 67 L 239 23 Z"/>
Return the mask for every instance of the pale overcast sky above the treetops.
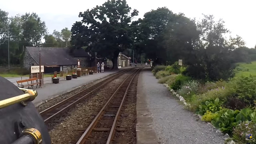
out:
<path id="1" fill-rule="evenodd" d="M 48 32 L 62 30 L 79 21 L 79 12 L 84 12 L 107 0 L 0 0 L 0 9 L 9 16 L 36 12 L 46 22 Z M 182 12 L 189 18 L 202 18 L 202 14 L 212 14 L 226 22 L 226 28 L 241 36 L 246 46 L 256 44 L 256 8 L 254 0 L 126 0 L 132 9 L 139 11 L 137 18 L 158 7 L 166 6 L 174 13 Z M 75 3 L 76 2 L 76 3 Z"/>

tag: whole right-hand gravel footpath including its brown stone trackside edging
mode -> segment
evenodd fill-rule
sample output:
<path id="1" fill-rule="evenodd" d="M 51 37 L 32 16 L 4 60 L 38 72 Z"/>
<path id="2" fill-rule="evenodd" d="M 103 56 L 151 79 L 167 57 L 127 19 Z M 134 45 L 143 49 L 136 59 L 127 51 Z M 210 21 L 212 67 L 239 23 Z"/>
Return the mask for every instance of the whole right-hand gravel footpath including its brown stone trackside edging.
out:
<path id="1" fill-rule="evenodd" d="M 158 84 L 150 68 L 137 86 L 137 144 L 223 144 L 224 136 L 184 109 L 176 96 Z"/>

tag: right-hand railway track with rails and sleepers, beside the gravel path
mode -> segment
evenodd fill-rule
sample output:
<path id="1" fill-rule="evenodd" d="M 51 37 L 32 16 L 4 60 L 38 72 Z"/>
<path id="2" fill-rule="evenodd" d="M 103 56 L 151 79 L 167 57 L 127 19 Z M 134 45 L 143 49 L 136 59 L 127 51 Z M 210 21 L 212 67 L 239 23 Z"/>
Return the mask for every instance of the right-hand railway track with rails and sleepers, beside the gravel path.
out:
<path id="1" fill-rule="evenodd" d="M 95 142 L 111 144 L 115 132 L 125 130 L 125 128 L 116 128 L 117 121 L 120 116 L 128 116 L 127 114 L 121 115 L 121 109 L 134 77 L 142 68 L 136 69 L 120 84 L 76 144 L 93 144 Z"/>

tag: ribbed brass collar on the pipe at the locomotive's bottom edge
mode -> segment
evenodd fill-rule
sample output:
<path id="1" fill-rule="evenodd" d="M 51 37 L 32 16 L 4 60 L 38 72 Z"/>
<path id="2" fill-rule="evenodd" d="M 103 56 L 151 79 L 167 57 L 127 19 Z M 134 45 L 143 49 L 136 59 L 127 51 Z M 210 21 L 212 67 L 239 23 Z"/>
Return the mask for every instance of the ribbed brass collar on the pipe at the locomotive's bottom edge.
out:
<path id="1" fill-rule="evenodd" d="M 35 128 L 26 128 L 20 133 L 20 137 L 23 135 L 29 135 L 33 138 L 34 144 L 41 144 L 42 143 L 42 135 L 39 130 Z"/>

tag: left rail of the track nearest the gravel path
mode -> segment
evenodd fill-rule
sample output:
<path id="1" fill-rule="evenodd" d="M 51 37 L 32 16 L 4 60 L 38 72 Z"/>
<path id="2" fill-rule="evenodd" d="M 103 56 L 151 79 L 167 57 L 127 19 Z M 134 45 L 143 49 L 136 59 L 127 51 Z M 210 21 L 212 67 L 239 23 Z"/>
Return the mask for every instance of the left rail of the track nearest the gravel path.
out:
<path id="1" fill-rule="evenodd" d="M 143 67 L 142 67 L 143 68 Z M 84 134 L 82 134 L 82 136 L 80 137 L 80 139 L 78 140 L 78 142 L 76 142 L 76 144 L 84 144 L 86 142 L 86 139 L 88 139 L 88 137 L 90 136 L 92 130 L 94 129 L 94 127 L 96 126 L 98 120 L 100 119 L 100 117 L 102 116 L 102 114 L 104 113 L 104 110 L 107 108 L 108 104 L 110 103 L 110 101 L 112 100 L 112 98 L 117 94 L 118 90 L 120 90 L 120 88 L 124 85 L 124 83 L 126 82 L 126 80 L 128 80 L 128 78 L 130 78 L 130 76 L 132 76 L 134 73 L 135 75 L 137 74 L 138 71 L 140 71 L 142 68 L 138 68 L 136 69 L 132 74 L 130 74 L 123 82 L 122 84 L 120 84 L 120 86 L 116 89 L 116 91 L 114 92 L 114 94 L 112 94 L 112 96 L 108 99 L 108 101 L 106 102 L 106 104 L 102 107 L 102 109 L 100 110 L 100 112 L 97 114 L 97 116 L 94 118 L 94 120 L 92 121 L 92 123 L 88 126 L 88 128 L 86 129 L 86 131 L 84 132 Z M 134 76 L 135 76 L 134 75 Z M 134 77 L 133 77 L 134 78 Z M 132 80 L 133 80 L 132 78 Z M 130 80 L 130 81 L 132 81 Z"/>

